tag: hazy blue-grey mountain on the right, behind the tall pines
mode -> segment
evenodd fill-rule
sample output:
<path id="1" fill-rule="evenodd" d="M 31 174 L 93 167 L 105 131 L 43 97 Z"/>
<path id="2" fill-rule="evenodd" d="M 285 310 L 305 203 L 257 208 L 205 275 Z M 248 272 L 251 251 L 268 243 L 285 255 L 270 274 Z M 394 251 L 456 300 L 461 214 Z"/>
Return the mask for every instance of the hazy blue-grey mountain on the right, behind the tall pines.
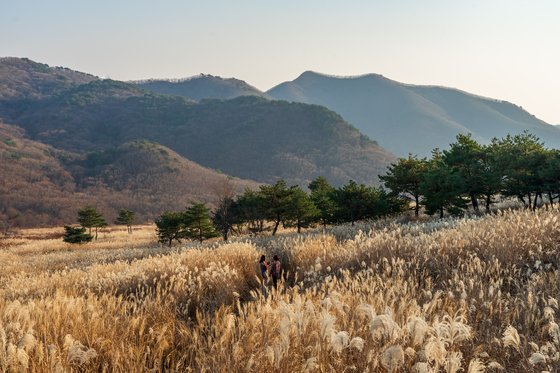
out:
<path id="1" fill-rule="evenodd" d="M 560 147 L 560 130 L 513 104 L 456 89 L 406 85 L 381 75 L 341 78 L 308 71 L 267 94 L 334 110 L 400 156 L 428 155 L 435 147 L 447 147 L 458 133 L 488 142 L 529 130 L 547 146 Z"/>

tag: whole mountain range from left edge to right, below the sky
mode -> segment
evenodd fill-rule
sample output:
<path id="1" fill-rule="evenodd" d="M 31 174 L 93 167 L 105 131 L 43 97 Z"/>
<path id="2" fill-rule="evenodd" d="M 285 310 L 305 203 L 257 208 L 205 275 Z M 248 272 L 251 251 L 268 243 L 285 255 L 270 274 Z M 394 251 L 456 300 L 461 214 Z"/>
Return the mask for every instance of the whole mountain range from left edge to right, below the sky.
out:
<path id="1" fill-rule="evenodd" d="M 514 104 L 375 74 L 308 71 L 262 92 L 211 75 L 122 82 L 0 58 L 0 220 L 59 224 L 86 203 L 149 220 L 212 205 L 224 183 L 376 184 L 393 154 L 524 130 L 560 147 L 560 128 Z"/>

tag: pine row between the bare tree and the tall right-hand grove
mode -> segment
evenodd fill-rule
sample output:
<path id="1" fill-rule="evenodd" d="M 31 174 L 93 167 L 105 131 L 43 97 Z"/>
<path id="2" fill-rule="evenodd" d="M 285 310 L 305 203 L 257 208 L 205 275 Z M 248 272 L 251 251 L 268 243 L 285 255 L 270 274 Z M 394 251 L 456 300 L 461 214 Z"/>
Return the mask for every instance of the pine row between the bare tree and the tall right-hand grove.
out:
<path id="1" fill-rule="evenodd" d="M 324 177 L 309 185 L 309 193 L 300 186 L 287 186 L 284 180 L 262 185 L 259 190 L 246 190 L 237 198 L 224 198 L 213 220 L 222 237 L 232 231 L 246 229 L 274 236 L 278 228 L 296 228 L 298 232 L 315 224 L 354 223 L 400 212 L 402 199 L 389 195 L 379 187 L 349 181 L 335 188 Z M 270 222 L 271 227 L 266 223 Z"/>

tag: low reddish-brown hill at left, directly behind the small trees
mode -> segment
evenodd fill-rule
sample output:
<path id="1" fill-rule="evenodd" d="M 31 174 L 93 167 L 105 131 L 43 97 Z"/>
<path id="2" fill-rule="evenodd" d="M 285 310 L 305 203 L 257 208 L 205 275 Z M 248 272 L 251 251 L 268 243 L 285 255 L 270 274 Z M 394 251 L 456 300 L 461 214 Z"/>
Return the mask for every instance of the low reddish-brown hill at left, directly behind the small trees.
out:
<path id="1" fill-rule="evenodd" d="M 147 141 L 79 155 L 30 140 L 0 123 L 0 221 L 17 226 L 68 224 L 86 204 L 112 221 L 118 209 L 153 220 L 192 201 L 216 203 L 227 176 Z M 256 188 L 230 178 L 232 188 Z"/>

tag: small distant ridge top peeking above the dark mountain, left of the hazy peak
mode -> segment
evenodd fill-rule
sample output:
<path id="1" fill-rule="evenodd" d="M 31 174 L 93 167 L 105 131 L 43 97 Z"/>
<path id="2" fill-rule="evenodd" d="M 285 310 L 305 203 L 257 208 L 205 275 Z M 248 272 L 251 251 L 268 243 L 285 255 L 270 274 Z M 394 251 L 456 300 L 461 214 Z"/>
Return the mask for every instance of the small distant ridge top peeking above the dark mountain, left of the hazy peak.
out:
<path id="1" fill-rule="evenodd" d="M 199 75 L 182 80 L 146 80 L 134 82 L 154 93 L 176 95 L 200 101 L 203 99 L 231 99 L 239 96 L 267 95 L 239 79 L 224 79 L 212 75 Z"/>

